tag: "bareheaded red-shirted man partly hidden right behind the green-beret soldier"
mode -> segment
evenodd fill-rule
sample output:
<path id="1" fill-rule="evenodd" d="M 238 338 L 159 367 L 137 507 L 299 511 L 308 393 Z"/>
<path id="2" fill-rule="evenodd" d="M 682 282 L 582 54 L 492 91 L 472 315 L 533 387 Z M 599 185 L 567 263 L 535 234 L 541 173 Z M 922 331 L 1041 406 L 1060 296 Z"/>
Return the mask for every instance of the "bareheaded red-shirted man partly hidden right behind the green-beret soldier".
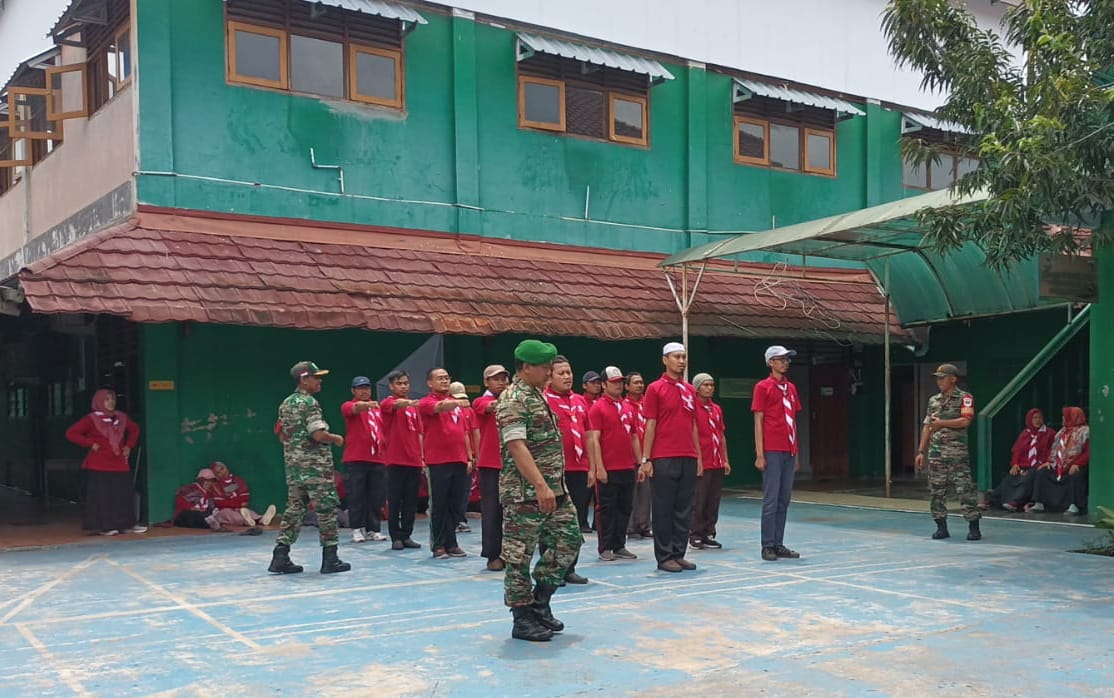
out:
<path id="1" fill-rule="evenodd" d="M 588 508 L 592 505 L 592 490 L 595 478 L 588 468 L 588 403 L 583 395 L 573 392 L 573 365 L 558 354 L 554 358 L 546 401 L 560 430 L 565 448 L 565 488 L 576 507 L 576 518 L 582 533 L 590 533 Z M 586 584 L 588 579 L 576 572 L 576 562 L 568 568 L 565 581 L 570 584 Z"/>

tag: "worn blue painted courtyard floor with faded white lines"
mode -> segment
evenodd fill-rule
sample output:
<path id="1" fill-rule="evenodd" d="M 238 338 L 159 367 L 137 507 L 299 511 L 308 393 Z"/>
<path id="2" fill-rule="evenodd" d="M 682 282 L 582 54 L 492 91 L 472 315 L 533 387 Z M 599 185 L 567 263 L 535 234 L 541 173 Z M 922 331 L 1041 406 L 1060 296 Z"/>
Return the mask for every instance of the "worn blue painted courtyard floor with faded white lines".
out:
<path id="1" fill-rule="evenodd" d="M 271 534 L 0 553 L 0 696 L 1114 695 L 1114 559 L 1067 552 L 1095 530 L 990 520 L 969 543 L 952 517 L 931 541 L 927 513 L 794 503 L 803 557 L 771 563 L 758 511 L 725 499 L 694 572 L 589 542 L 537 645 L 476 554 L 344 543 L 353 571 L 321 576 L 314 529 L 291 577 L 265 572 Z"/>

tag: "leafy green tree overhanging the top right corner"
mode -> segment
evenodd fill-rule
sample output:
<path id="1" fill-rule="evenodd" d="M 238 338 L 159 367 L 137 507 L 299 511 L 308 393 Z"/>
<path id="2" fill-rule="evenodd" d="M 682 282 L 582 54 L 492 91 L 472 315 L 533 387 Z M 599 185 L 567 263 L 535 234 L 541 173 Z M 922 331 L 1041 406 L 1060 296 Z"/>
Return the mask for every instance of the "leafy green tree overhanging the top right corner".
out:
<path id="1" fill-rule="evenodd" d="M 971 240 L 1008 265 L 1114 238 L 1114 0 L 1019 0 L 1000 31 L 956 0 L 890 0 L 882 29 L 898 65 L 946 95 L 939 116 L 969 131 L 961 147 L 980 164 L 957 193 L 990 194 L 922 212 L 931 244 Z M 916 137 L 901 149 L 920 166 L 940 155 Z"/>

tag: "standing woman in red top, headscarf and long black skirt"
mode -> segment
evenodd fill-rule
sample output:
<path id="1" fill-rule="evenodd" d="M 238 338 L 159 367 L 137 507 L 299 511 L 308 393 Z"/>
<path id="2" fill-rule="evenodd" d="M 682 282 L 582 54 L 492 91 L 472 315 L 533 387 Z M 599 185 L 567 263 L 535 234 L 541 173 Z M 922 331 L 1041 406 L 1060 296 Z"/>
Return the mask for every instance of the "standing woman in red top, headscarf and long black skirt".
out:
<path id="1" fill-rule="evenodd" d="M 145 533 L 136 524 L 128 455 L 139 441 L 139 427 L 116 409 L 116 393 L 101 389 L 92 395 L 92 412 L 66 430 L 66 439 L 89 449 L 85 515 L 81 528 L 101 535 Z"/>

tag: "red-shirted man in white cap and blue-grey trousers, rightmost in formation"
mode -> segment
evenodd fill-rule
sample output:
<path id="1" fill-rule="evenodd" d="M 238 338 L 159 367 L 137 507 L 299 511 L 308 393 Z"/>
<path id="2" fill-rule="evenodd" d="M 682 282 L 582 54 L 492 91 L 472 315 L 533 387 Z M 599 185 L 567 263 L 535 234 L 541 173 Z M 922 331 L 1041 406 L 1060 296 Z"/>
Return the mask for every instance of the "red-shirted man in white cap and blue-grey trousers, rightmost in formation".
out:
<path id="1" fill-rule="evenodd" d="M 754 386 L 754 466 L 762 471 L 762 559 L 800 558 L 785 548 L 785 514 L 793 494 L 793 474 L 800 469 L 797 413 L 801 399 L 790 383 L 790 358 L 797 352 L 774 345 L 765 351 L 770 375 Z"/>

